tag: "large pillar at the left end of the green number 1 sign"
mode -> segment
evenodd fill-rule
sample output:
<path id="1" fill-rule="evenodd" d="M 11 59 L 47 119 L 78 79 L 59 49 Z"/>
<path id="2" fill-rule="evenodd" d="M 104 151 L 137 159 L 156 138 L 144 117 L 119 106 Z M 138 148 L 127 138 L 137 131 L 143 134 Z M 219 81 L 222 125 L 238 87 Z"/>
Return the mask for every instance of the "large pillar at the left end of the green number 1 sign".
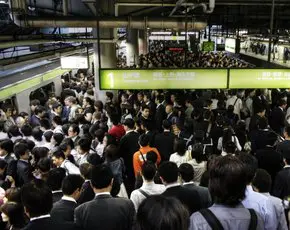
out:
<path id="1" fill-rule="evenodd" d="M 100 29 L 100 38 L 113 40 L 114 30 L 113 29 Z M 94 38 L 98 37 L 98 31 L 96 28 L 93 28 Z M 95 98 L 96 100 L 105 101 L 106 91 L 113 92 L 117 94 L 116 90 L 101 90 L 100 85 L 100 68 L 116 68 L 116 45 L 115 43 L 94 43 L 94 69 L 95 69 Z M 101 61 L 99 62 L 99 56 Z"/>

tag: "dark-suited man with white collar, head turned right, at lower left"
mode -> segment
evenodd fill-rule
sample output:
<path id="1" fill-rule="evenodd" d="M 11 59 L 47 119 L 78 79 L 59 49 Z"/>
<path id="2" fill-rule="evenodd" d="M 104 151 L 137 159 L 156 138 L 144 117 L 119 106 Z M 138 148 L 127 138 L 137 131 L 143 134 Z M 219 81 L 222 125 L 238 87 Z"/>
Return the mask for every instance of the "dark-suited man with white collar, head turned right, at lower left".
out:
<path id="1" fill-rule="evenodd" d="M 52 220 L 56 223 L 74 222 L 74 210 L 81 193 L 84 179 L 80 175 L 71 174 L 62 182 L 63 197 L 53 204 L 50 212 Z"/>

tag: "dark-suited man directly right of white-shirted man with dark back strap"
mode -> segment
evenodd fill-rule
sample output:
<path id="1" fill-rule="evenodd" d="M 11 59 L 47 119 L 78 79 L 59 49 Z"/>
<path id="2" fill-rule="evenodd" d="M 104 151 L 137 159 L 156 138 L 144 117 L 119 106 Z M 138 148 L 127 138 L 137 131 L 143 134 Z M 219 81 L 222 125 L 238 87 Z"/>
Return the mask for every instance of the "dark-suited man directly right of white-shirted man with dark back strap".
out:
<path id="1" fill-rule="evenodd" d="M 159 166 L 158 172 L 166 188 L 166 191 L 162 195 L 177 198 L 187 207 L 190 215 L 202 208 L 197 191 L 182 187 L 178 183 L 178 167 L 175 163 L 169 161 L 163 162 Z"/>

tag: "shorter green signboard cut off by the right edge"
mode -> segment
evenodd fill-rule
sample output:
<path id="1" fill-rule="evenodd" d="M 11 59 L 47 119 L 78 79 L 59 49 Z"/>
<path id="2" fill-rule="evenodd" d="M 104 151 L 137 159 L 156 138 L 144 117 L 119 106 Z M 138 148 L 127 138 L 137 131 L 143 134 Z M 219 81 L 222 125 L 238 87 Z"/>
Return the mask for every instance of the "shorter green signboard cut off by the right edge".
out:
<path id="1" fill-rule="evenodd" d="M 290 69 L 231 69 L 230 89 L 290 88 Z"/>

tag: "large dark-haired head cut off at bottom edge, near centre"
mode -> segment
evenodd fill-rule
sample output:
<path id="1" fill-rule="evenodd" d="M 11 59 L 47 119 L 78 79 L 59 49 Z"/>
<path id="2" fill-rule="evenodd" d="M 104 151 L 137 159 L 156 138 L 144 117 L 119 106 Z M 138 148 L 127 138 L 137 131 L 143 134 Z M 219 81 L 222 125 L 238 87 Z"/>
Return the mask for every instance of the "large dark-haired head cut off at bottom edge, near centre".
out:
<path id="1" fill-rule="evenodd" d="M 140 204 L 137 227 L 140 230 L 187 230 L 189 213 L 176 198 L 153 195 Z"/>

